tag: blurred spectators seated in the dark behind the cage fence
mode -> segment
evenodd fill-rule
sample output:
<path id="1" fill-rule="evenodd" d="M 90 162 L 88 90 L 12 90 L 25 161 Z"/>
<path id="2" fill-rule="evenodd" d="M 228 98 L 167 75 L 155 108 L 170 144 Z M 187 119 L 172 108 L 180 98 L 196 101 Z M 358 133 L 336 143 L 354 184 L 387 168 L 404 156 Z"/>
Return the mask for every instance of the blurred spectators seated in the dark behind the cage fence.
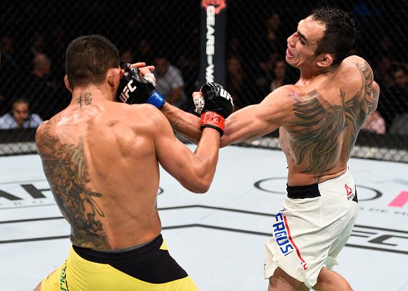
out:
<path id="1" fill-rule="evenodd" d="M 225 85 L 234 98 L 236 110 L 262 101 L 271 91 L 284 84 L 294 84 L 299 78 L 297 70 L 288 67 L 284 60 L 286 38 L 294 32 L 291 30 L 295 30 L 296 23 L 288 29 L 278 12 L 268 13 L 260 19 L 264 20 L 252 27 L 257 31 L 256 38 L 251 38 L 252 30 L 236 32 L 239 27 L 234 27 L 240 17 L 229 19 Z M 144 30 L 144 27 L 135 27 L 138 21 L 137 16 L 128 21 L 124 34 Z M 63 77 L 65 49 L 72 37 L 67 36 L 62 25 L 49 27 L 48 31 L 51 33 L 38 30 L 30 34 L 30 38 L 25 35 L 23 39 L 9 32 L 0 35 L 1 129 L 36 127 L 41 120 L 49 119 L 69 104 Z M 199 88 L 196 84 L 199 30 L 192 30 L 188 37 L 196 49 L 193 54 L 191 51 L 163 54 L 166 43 L 156 41 L 153 44 L 146 35 L 137 38 L 137 42 L 122 42 L 117 46 L 122 64 L 144 61 L 155 65 L 157 90 L 171 104 L 193 112 L 190 95 Z M 249 39 L 256 51 L 248 49 Z M 157 49 L 160 45 L 161 51 Z M 350 55 L 366 58 L 365 49 L 368 48 L 353 49 Z M 374 79 L 381 87 L 381 97 L 377 110 L 367 118 L 363 130 L 408 135 L 408 65 L 395 56 L 392 40 L 385 35 L 378 43 L 375 58 L 368 58 Z"/>

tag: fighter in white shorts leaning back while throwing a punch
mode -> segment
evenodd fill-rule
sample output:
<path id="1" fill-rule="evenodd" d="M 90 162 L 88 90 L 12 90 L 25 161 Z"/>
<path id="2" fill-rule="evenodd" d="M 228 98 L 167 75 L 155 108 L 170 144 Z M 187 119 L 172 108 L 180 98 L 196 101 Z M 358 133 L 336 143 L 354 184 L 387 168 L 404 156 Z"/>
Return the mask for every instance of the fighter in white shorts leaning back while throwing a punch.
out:
<path id="1" fill-rule="evenodd" d="M 314 10 L 287 39 L 286 62 L 300 70 L 299 81 L 225 121 L 221 146 L 280 130 L 287 197 L 265 248 L 269 290 L 351 290 L 331 268 L 357 215 L 348 159 L 379 95 L 370 65 L 359 56 L 346 57 L 355 37 L 348 13 Z M 201 94 L 193 96 L 198 100 Z M 182 135 L 199 141 L 197 117 L 170 104 L 161 110 Z"/>

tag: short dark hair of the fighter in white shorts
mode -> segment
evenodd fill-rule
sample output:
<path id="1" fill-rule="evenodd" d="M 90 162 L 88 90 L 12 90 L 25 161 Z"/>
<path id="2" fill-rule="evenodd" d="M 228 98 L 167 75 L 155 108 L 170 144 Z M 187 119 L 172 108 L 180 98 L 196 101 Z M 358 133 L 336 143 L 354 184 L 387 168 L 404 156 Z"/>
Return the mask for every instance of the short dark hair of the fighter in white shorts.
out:
<path id="1" fill-rule="evenodd" d="M 322 7 L 310 13 L 313 20 L 326 25 L 324 36 L 319 41 L 315 55 L 328 53 L 334 56 L 333 64 L 341 62 L 354 45 L 356 26 L 354 19 L 343 10 Z"/>

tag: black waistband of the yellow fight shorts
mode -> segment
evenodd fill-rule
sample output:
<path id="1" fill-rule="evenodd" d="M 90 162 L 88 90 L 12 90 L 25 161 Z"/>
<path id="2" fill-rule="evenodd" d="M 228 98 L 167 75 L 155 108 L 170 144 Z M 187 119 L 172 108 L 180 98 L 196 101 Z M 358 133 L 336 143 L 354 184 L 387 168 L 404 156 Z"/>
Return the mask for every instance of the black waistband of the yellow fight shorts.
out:
<path id="1" fill-rule="evenodd" d="M 111 253 L 105 251 L 95 251 L 91 248 L 81 248 L 80 246 L 76 246 L 74 244 L 72 245 L 72 248 L 83 259 L 87 259 L 88 261 L 93 261 L 100 264 L 112 264 L 115 261 L 122 261 L 123 259 L 140 257 L 144 253 L 149 253 L 154 249 L 160 248 L 161 244 L 163 244 L 163 237 L 161 236 L 161 234 L 159 234 L 148 244 L 130 251 Z"/>

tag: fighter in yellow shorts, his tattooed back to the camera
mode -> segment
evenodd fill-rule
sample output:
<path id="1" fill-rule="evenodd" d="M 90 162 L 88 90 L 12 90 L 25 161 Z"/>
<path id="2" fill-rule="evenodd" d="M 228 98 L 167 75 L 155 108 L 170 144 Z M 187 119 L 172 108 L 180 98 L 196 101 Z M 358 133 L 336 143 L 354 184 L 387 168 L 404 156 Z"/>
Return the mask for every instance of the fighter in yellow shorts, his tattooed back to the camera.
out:
<path id="1" fill-rule="evenodd" d="M 36 146 L 71 225 L 72 247 L 36 291 L 197 290 L 160 234 L 159 163 L 190 191 L 207 191 L 224 125 L 214 119 L 223 121 L 234 108 L 229 95 L 203 86 L 203 135 L 193 153 L 157 109 L 164 100 L 142 76 L 154 67 L 144 65 L 125 73 L 117 48 L 103 36 L 82 36 L 67 47 L 71 104 L 38 128 Z M 150 104 L 115 102 L 118 87 L 122 99 Z"/>

